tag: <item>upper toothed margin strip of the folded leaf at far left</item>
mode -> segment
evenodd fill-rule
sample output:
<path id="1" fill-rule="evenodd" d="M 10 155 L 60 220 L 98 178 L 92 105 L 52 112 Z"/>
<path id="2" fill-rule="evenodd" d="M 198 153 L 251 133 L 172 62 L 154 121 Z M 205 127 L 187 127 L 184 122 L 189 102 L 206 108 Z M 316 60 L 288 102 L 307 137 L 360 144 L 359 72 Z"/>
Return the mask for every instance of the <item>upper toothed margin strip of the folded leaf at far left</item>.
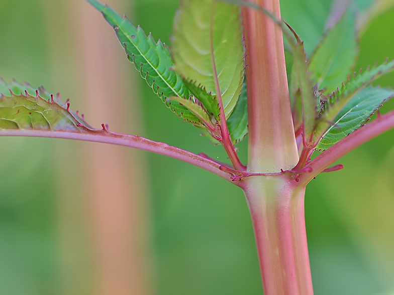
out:
<path id="1" fill-rule="evenodd" d="M 11 91 L 11 92 L 10 92 Z M 69 105 L 67 103 L 63 103 L 60 100 L 60 95 L 52 95 L 50 92 L 46 91 L 44 87 L 38 87 L 35 88 L 31 86 L 29 83 L 18 83 L 17 81 L 13 80 L 11 83 L 6 83 L 3 79 L 0 78 L 0 94 L 4 94 L 5 96 L 10 96 L 12 93 L 14 94 L 21 94 L 21 95 L 26 95 L 25 91 L 31 95 L 36 97 L 37 94 L 44 100 L 48 102 L 54 102 L 57 105 L 61 106 L 64 109 L 68 108 L 68 112 L 78 121 L 78 123 L 83 124 L 84 126 L 91 128 L 91 126 L 86 123 L 86 121 L 83 118 L 83 115 L 79 115 L 78 112 L 73 112 L 72 110 L 69 109 Z"/>

